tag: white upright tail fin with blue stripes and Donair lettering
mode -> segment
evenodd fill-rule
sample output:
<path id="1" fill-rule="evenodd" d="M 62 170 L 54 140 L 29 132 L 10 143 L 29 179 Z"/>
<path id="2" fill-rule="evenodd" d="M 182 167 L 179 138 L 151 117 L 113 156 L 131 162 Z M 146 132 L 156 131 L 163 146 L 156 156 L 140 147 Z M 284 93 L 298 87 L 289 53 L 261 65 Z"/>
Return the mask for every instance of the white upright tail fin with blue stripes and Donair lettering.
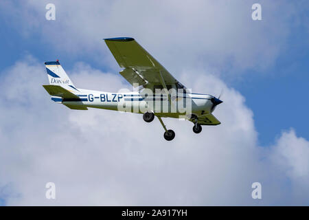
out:
<path id="1" fill-rule="evenodd" d="M 59 61 L 45 62 L 49 85 L 59 85 L 69 91 L 78 92 L 79 90 L 74 87 L 69 76 L 65 73 Z"/>

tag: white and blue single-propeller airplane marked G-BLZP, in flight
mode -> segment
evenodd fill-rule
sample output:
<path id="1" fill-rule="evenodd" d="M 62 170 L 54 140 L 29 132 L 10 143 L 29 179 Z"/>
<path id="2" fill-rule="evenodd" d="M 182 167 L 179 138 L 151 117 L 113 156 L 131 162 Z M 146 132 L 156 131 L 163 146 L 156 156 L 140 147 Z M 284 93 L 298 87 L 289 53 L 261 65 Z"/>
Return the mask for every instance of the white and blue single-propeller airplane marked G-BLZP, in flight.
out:
<path id="1" fill-rule="evenodd" d="M 133 85 L 133 91 L 106 92 L 80 89 L 73 85 L 59 61 L 47 61 L 45 67 L 49 85 L 43 85 L 54 102 L 69 109 L 109 109 L 142 113 L 145 122 L 155 117 L 163 126 L 165 140 L 173 140 L 175 133 L 167 129 L 162 118 L 184 118 L 194 123 L 194 133 L 202 131 L 202 125 L 218 125 L 212 114 L 222 103 L 208 94 L 193 94 L 155 58 L 144 50 L 135 39 L 116 37 L 104 39 L 108 49 L 121 68 L 119 74 Z"/>

